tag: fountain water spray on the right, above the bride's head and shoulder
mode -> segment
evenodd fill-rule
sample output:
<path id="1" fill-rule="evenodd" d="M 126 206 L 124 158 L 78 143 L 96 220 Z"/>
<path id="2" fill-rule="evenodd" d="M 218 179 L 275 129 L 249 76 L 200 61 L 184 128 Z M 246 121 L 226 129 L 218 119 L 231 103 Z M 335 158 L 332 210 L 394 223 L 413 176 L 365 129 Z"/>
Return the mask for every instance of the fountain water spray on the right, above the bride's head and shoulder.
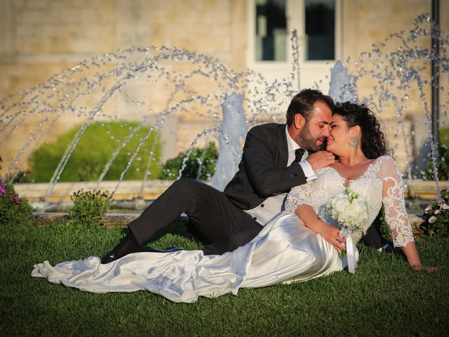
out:
<path id="1" fill-rule="evenodd" d="M 346 70 L 338 62 L 334 67 L 337 85 L 341 86 L 342 98 L 354 99 L 368 104 L 372 110 L 381 114 L 386 107 L 390 107 L 395 112 L 395 116 L 391 118 L 394 126 L 390 129 L 395 140 L 402 142 L 402 146 L 398 145 L 394 150 L 402 150 L 405 154 L 405 165 L 403 173 L 405 178 L 413 180 L 420 178 L 420 173 L 427 164 L 433 163 L 433 175 L 436 184 L 436 195 L 439 194 L 438 171 L 436 166 L 437 144 L 434 143 L 432 135 L 431 112 L 429 107 L 431 87 L 435 86 L 434 78 L 429 78 L 430 64 L 434 61 L 439 67 L 440 78 L 444 83 L 448 83 L 448 34 L 441 32 L 439 27 L 434 25 L 428 15 L 420 15 L 413 22 L 414 29 L 410 31 L 401 31 L 391 34 L 384 41 L 373 44 L 371 51 L 361 53 L 357 60 L 354 61 L 353 70 L 348 75 Z M 431 38 L 437 39 L 441 44 L 439 54 L 435 53 L 434 48 L 422 48 L 419 41 L 431 41 Z M 392 48 L 394 46 L 395 48 Z M 347 60 L 350 64 L 351 60 Z M 361 81 L 371 81 L 373 88 L 368 93 L 358 95 L 357 87 Z M 332 82 L 331 82 L 332 85 Z M 444 93 L 445 88 L 440 86 L 436 88 Z M 410 103 L 410 98 L 419 98 L 420 110 L 424 112 L 424 119 L 420 123 L 415 122 L 414 129 L 406 132 L 408 110 L 416 110 Z M 448 95 L 442 94 L 443 100 L 440 100 L 440 127 L 448 127 Z M 391 123 L 390 123 L 391 124 Z M 409 121 L 410 124 L 410 121 Z M 417 125 L 421 124 L 421 125 Z M 420 131 L 421 129 L 421 131 Z M 420 133 L 420 138 L 418 138 Z M 402 137 L 401 137 L 402 136 Z M 424 139 L 424 140 L 423 140 Z M 449 143 L 449 139 L 444 140 Z M 415 147 L 413 155 L 410 152 L 408 143 Z M 446 151 L 448 149 L 446 148 Z M 443 154 L 440 154 L 443 156 Z M 410 158 L 414 158 L 410 161 Z M 443 159 L 444 160 L 444 159 Z"/>

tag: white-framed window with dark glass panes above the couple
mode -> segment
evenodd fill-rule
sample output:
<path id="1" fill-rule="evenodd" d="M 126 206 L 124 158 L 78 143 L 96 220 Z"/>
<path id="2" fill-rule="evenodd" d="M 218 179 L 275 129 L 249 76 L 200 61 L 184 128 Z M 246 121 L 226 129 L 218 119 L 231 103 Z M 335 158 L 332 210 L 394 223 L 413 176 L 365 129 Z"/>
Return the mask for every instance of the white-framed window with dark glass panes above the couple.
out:
<path id="1" fill-rule="evenodd" d="M 300 51 L 300 88 L 327 92 L 333 61 L 342 56 L 342 0 L 248 0 L 246 65 L 267 83 L 292 76 L 292 29 Z M 296 88 L 295 88 L 296 89 Z M 251 92 L 254 92 L 251 90 Z"/>

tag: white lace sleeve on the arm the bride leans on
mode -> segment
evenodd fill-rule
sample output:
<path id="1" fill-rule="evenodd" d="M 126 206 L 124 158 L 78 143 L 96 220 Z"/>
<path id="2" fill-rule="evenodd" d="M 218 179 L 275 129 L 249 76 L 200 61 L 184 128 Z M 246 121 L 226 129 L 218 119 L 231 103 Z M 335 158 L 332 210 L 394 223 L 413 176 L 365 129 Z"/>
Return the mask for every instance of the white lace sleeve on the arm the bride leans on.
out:
<path id="1" fill-rule="evenodd" d="M 385 157 L 381 166 L 383 176 L 382 203 L 394 246 L 404 247 L 413 242 L 413 232 L 408 220 L 404 190 L 398 165 L 391 157 Z"/>

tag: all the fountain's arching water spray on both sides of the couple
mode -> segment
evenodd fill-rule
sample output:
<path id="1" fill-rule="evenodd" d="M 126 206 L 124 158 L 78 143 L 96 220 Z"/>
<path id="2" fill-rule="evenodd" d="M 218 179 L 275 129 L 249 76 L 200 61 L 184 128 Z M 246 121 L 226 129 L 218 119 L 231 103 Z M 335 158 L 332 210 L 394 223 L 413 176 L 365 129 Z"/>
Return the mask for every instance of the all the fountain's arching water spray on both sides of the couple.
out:
<path id="1" fill-rule="evenodd" d="M 429 157 L 424 159 L 434 160 L 435 147 L 431 143 L 427 104 L 427 91 L 431 84 L 427 75 L 429 60 L 438 61 L 441 77 L 448 77 L 449 73 L 446 49 L 448 36 L 438 29 L 430 29 L 430 25 L 429 18 L 420 15 L 414 22 L 415 27 L 409 32 L 391 34 L 385 41 L 373 45 L 372 51 L 362 53 L 354 63 L 346 60 L 344 65 L 337 62 L 333 67 L 330 94 L 336 100 L 366 102 L 381 117 L 387 110 L 394 111 L 394 116 L 389 117 L 397 121 L 392 131 L 396 135 L 396 150 L 406 153 L 406 165 L 403 167 L 406 178 L 417 178 L 419 166 L 417 162 L 410 161 L 412 156 L 409 145 L 413 143 L 411 138 L 414 135 L 406 132 L 409 98 L 413 95 L 420 98 L 420 110 L 425 112 L 429 132 L 427 139 L 430 140 L 431 149 Z M 431 34 L 436 34 L 441 41 L 441 56 L 417 44 L 420 39 L 430 39 Z M 295 43 L 295 32 L 292 41 L 295 56 L 292 73 L 290 77 L 273 83 L 267 83 L 260 74 L 251 70 L 234 72 L 206 55 L 152 46 L 128 48 L 83 60 L 37 86 L 9 95 L 0 100 L 0 144 L 8 141 L 25 119 L 35 119 L 36 125 L 23 139 L 15 158 L 6 163 L 8 169 L 4 179 L 13 179 L 20 173 L 32 152 L 53 128 L 60 125 L 60 121 L 81 124 L 48 185 L 45 197 L 48 204 L 55 184 L 90 124 L 107 120 L 126 123 L 128 119 L 138 119 L 151 127 L 140 139 L 135 151 L 129 154 L 128 164 L 123 167 L 121 175 L 116 177 L 114 192 L 117 192 L 124 174 L 138 157 L 140 148 L 151 133 L 162 132 L 164 128 L 170 132 L 170 123 L 188 114 L 207 124 L 192 140 L 191 147 L 202 140 L 217 138 L 220 157 L 217 162 L 218 174 L 213 178 L 213 183 L 222 189 L 239 161 L 246 130 L 259 123 L 260 119 L 284 122 L 286 104 L 297 92 L 296 85 L 299 85 L 296 72 L 299 71 L 297 59 L 300 51 Z M 391 44 L 396 46 L 394 50 L 391 50 Z M 361 82 L 371 84 L 369 92 L 358 92 Z M 441 91 L 444 92 L 443 87 Z M 449 124 L 447 95 L 445 99 L 440 104 L 442 126 Z M 220 110 L 226 112 L 222 118 Z M 135 132 L 135 129 L 130 130 L 128 138 Z M 403 138 L 398 136 L 401 134 Z M 108 154 L 111 159 L 98 177 L 96 187 L 102 186 L 105 172 L 128 138 L 111 140 L 116 143 L 116 151 Z M 224 148 L 228 151 L 224 151 Z M 148 162 L 161 160 L 153 158 L 151 149 L 147 150 Z M 234 169 L 227 168 L 226 163 L 232 163 Z M 220 172 L 227 173 L 227 176 L 221 176 Z M 147 171 L 140 190 L 143 190 L 146 181 Z M 438 190 L 438 179 L 436 186 Z"/>

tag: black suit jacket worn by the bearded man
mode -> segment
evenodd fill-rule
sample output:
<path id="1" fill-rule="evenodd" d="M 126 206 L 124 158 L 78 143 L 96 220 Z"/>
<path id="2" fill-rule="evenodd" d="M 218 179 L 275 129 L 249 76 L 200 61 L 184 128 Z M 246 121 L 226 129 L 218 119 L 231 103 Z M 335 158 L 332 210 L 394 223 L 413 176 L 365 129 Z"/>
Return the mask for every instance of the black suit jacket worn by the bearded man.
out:
<path id="1" fill-rule="evenodd" d="M 286 124 L 262 124 L 248 131 L 239 171 L 225 187 L 228 199 L 241 209 L 253 209 L 274 194 L 307 182 L 300 164 L 287 167 Z"/>

